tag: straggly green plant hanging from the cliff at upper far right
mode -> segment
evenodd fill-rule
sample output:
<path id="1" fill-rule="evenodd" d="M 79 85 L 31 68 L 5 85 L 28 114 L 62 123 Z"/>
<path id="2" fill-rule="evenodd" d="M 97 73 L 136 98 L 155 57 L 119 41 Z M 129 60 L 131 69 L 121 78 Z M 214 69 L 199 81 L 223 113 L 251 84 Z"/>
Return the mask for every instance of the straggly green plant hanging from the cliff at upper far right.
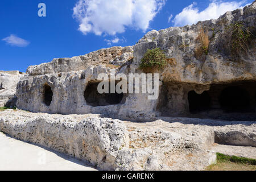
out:
<path id="1" fill-rule="evenodd" d="M 243 22 L 235 22 L 225 28 L 226 46 L 236 55 L 247 53 L 252 36 L 250 28 Z"/>

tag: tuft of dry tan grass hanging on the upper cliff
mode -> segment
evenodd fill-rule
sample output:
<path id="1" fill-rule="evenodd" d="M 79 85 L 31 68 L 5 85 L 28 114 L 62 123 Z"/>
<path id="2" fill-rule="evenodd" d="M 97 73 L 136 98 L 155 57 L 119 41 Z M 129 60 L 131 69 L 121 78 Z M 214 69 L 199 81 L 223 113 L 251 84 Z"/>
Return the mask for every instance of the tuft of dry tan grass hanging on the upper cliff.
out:
<path id="1" fill-rule="evenodd" d="M 208 55 L 208 49 L 210 44 L 208 30 L 204 30 L 203 28 L 201 28 L 196 42 L 199 42 L 199 46 L 195 49 L 195 57 L 197 59 L 200 59 L 201 56 Z"/>

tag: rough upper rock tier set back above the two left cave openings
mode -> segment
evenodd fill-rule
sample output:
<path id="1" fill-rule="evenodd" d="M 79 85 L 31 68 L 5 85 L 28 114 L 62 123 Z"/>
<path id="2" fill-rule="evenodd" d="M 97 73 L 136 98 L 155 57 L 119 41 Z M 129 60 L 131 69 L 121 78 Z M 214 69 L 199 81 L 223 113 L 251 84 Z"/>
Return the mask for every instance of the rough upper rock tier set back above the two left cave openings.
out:
<path id="1" fill-rule="evenodd" d="M 111 47 L 90 52 L 83 56 L 72 58 L 53 59 L 50 63 L 30 66 L 27 74 L 30 76 L 45 75 L 61 72 L 73 72 L 86 70 L 90 66 L 99 64 L 120 65 L 133 59 L 133 46 L 130 47 Z"/>

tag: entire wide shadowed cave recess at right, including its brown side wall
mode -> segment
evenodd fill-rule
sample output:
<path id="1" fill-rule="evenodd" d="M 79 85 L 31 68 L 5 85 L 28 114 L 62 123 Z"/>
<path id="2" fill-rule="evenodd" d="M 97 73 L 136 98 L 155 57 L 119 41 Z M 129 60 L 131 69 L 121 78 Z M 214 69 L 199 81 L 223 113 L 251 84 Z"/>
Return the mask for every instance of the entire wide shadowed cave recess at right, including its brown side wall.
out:
<path id="1" fill-rule="evenodd" d="M 205 85 L 164 83 L 156 110 L 163 117 L 256 121 L 256 81 L 212 84 L 202 94 L 192 90 L 199 88 Z"/>

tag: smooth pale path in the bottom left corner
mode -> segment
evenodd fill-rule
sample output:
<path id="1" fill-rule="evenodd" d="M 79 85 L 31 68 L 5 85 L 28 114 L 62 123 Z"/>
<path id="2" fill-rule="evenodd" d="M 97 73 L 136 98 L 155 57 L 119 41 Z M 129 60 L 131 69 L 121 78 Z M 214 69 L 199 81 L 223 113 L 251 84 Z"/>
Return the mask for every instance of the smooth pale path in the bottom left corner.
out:
<path id="1" fill-rule="evenodd" d="M 0 170 L 95 171 L 96 169 L 75 158 L 7 137 L 0 132 Z"/>

